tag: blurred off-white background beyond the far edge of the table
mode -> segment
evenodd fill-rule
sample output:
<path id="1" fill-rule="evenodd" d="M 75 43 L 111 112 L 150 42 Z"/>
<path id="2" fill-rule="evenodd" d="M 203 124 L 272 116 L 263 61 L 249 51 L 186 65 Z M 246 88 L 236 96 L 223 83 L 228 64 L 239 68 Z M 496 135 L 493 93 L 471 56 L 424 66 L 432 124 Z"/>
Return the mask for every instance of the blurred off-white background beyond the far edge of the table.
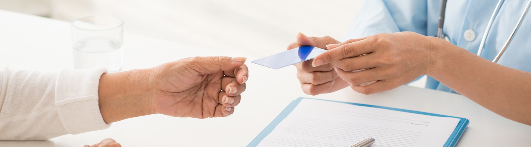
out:
<path id="1" fill-rule="evenodd" d="M 125 21 L 128 33 L 263 57 L 286 50 L 297 32 L 344 40 L 361 2 L 0 0 L 0 8 L 64 21 L 87 14 L 115 15 Z"/>

